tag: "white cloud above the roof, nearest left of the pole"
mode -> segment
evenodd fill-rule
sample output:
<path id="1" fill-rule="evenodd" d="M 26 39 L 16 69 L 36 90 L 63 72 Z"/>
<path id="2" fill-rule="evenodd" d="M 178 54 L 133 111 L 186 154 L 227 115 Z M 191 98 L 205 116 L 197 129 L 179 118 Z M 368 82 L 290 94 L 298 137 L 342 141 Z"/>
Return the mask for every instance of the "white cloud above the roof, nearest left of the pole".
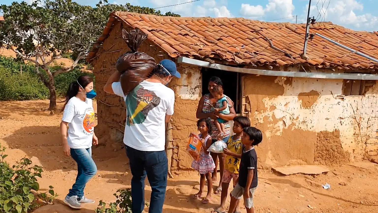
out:
<path id="1" fill-rule="evenodd" d="M 262 5 L 249 4 L 242 4 L 240 7 L 240 14 L 243 17 L 254 19 L 291 17 L 293 16 L 293 11 L 294 5 L 292 0 L 269 0 L 265 8 Z"/>

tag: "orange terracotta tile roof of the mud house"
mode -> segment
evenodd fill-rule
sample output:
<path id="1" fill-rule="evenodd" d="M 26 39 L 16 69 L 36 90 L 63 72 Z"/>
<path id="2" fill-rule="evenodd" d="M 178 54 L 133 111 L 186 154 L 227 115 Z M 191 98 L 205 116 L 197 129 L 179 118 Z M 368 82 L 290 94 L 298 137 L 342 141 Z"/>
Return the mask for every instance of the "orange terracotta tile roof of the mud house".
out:
<path id="1" fill-rule="evenodd" d="M 110 14 L 98 43 L 103 42 L 110 33 L 115 18 L 122 20 L 126 26 L 142 29 L 149 40 L 171 57 L 216 57 L 236 65 L 306 64 L 326 68 L 378 69 L 378 63 L 318 36 L 308 41 L 308 60 L 304 60 L 299 56 L 304 46 L 304 24 L 260 22 L 243 18 L 161 17 L 116 11 Z M 311 25 L 310 33 L 315 32 L 378 58 L 378 32 L 353 31 L 331 22 Z M 94 48 L 90 52 L 88 60 L 95 56 L 96 51 Z"/>

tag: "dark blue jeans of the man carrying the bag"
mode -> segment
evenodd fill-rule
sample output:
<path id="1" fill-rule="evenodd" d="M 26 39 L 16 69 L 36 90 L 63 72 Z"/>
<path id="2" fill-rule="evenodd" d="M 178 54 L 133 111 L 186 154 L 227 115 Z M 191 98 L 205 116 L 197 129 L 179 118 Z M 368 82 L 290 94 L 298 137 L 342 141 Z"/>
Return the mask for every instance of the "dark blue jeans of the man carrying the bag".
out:
<path id="1" fill-rule="evenodd" d="M 127 145 L 126 154 L 129 157 L 133 175 L 131 179 L 133 213 L 141 213 L 144 209 L 144 179 L 146 179 L 146 174 L 152 189 L 148 212 L 163 212 L 168 175 L 167 154 L 165 151 L 139 151 Z"/>

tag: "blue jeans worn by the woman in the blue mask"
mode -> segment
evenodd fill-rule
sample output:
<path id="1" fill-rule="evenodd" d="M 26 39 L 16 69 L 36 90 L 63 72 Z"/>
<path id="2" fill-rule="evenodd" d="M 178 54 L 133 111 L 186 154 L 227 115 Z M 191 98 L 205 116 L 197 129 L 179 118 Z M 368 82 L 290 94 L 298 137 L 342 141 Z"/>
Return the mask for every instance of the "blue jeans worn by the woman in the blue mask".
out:
<path id="1" fill-rule="evenodd" d="M 84 196 L 85 185 L 97 172 L 96 164 L 92 159 L 92 148 L 71 148 L 71 157 L 77 163 L 77 176 L 67 196 L 71 197 L 76 195 L 77 198 L 82 198 L 82 196 Z"/>

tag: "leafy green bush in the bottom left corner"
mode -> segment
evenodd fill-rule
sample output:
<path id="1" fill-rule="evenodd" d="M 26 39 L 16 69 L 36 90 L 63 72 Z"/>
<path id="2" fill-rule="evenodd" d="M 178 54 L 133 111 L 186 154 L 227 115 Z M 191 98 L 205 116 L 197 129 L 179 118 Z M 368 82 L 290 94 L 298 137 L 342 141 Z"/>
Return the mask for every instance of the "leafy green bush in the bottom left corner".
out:
<path id="1" fill-rule="evenodd" d="M 52 186 L 45 193 L 39 190 L 37 177 L 42 177 L 42 167 L 31 166 L 28 158 L 23 158 L 12 167 L 4 161 L 5 147 L 0 145 L 0 213 L 28 213 L 41 205 L 51 203 L 57 194 Z M 36 194 L 36 195 L 34 195 Z"/>

